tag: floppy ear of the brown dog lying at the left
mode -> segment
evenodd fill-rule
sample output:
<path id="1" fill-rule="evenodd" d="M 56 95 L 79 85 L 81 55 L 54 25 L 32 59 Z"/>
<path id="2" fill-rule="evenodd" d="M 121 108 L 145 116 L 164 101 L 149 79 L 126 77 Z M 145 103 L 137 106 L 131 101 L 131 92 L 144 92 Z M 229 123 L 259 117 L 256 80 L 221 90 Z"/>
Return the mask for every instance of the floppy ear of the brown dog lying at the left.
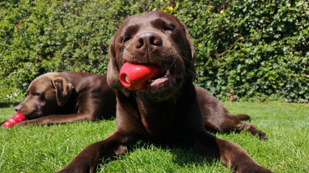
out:
<path id="1" fill-rule="evenodd" d="M 74 89 L 72 83 L 61 77 L 51 79 L 51 83 L 56 90 L 56 99 L 58 105 L 66 105 L 66 102 L 71 97 Z"/>

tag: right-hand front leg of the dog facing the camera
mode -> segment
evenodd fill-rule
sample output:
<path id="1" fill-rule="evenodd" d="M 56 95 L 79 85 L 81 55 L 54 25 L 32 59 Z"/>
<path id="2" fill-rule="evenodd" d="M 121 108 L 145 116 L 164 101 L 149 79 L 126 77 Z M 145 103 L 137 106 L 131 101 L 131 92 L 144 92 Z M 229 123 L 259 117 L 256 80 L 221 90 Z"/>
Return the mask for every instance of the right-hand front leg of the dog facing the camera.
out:
<path id="1" fill-rule="evenodd" d="M 237 173 L 270 173 L 268 169 L 256 163 L 239 145 L 228 140 L 219 139 L 207 131 L 191 135 L 193 151 L 197 154 L 220 159 L 231 171 Z"/>

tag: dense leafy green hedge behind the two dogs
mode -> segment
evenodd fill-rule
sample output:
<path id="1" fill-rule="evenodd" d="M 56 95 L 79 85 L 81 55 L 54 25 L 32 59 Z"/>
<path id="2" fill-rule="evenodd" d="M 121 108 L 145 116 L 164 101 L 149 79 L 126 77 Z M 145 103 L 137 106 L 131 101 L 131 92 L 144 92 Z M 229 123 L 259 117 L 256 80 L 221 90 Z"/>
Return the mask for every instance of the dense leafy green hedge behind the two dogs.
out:
<path id="1" fill-rule="evenodd" d="M 308 102 L 309 3 L 262 0 L 0 2 L 0 102 L 49 71 L 106 74 L 108 45 L 132 14 L 165 10 L 190 30 L 195 81 L 220 99 Z M 172 8 L 171 8 L 172 7 Z"/>

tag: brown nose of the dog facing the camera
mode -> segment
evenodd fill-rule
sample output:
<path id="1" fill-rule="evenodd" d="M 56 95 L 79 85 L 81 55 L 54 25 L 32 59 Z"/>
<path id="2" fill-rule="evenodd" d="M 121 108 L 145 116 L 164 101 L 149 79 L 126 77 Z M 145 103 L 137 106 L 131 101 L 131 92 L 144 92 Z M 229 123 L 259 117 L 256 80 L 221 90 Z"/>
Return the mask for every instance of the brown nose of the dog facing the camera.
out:
<path id="1" fill-rule="evenodd" d="M 162 45 L 162 39 L 155 32 L 143 32 L 134 39 L 135 48 L 140 54 L 152 54 Z"/>

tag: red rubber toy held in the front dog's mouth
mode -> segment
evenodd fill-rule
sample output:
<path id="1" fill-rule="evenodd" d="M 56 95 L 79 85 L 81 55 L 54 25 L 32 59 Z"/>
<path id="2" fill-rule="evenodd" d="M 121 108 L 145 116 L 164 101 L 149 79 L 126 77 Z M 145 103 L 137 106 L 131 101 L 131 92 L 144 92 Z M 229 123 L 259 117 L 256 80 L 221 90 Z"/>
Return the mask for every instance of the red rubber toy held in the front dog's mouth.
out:
<path id="1" fill-rule="evenodd" d="M 138 91 L 146 88 L 147 81 L 163 73 L 164 70 L 156 65 L 125 62 L 120 69 L 119 78 L 123 86 Z"/>

